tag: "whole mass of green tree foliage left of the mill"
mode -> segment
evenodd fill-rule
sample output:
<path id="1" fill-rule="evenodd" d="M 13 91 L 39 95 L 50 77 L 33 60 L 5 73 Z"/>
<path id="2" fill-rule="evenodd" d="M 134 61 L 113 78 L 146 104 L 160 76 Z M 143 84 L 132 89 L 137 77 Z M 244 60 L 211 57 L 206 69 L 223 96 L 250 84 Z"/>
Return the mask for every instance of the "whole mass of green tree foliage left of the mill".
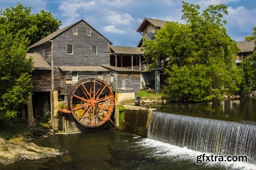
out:
<path id="1" fill-rule="evenodd" d="M 29 102 L 34 68 L 32 58 L 26 58 L 28 46 L 59 26 L 50 12 L 31 14 L 20 3 L 0 10 L 0 118 L 15 117 L 20 106 Z"/>

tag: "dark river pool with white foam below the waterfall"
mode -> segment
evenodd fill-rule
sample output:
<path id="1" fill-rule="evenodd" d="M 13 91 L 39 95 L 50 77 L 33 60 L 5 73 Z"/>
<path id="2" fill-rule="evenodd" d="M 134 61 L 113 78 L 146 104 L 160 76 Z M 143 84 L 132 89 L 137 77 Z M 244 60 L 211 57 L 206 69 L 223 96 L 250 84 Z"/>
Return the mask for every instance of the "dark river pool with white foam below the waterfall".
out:
<path id="1" fill-rule="evenodd" d="M 69 135 L 53 135 L 35 143 L 56 148 L 57 158 L 23 160 L 0 165 L 0 169 L 249 169 L 251 164 L 197 164 L 202 153 L 156 140 L 105 130 Z"/>

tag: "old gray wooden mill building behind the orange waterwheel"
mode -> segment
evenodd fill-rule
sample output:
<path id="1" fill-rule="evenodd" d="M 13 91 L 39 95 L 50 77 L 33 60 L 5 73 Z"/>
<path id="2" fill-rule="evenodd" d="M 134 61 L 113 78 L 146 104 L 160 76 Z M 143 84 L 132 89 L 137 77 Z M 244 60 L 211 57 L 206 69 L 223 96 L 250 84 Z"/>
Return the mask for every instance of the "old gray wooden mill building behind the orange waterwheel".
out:
<path id="1" fill-rule="evenodd" d="M 34 58 L 35 66 L 30 104 L 34 116 L 49 111 L 54 129 L 66 127 L 67 131 L 72 121 L 63 123 L 57 111 L 59 103 L 67 102 L 71 87 L 85 78 L 107 83 L 115 94 L 116 104 L 134 104 L 135 92 L 140 90 L 140 71 L 111 66 L 111 45 L 111 41 L 84 20 L 31 45 L 27 56 Z"/>

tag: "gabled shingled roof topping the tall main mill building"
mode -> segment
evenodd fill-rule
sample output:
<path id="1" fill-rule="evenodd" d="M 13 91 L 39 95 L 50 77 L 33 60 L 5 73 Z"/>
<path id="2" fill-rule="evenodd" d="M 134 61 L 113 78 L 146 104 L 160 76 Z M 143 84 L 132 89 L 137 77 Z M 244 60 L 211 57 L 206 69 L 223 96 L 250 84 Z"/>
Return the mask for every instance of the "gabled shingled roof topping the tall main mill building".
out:
<path id="1" fill-rule="evenodd" d="M 60 30 L 57 30 L 57 31 L 55 31 L 54 33 L 52 33 L 52 34 L 46 36 L 45 38 L 43 38 L 43 39 L 37 41 L 36 43 L 32 44 L 32 45 L 30 46 L 30 48 L 33 48 L 33 47 L 35 47 L 35 46 L 37 46 L 37 45 L 41 45 L 41 44 L 44 44 L 44 43 L 47 43 L 47 42 L 50 42 L 50 40 L 52 40 L 53 38 L 55 38 L 55 37 L 58 36 L 59 34 L 65 32 L 66 30 L 70 29 L 71 27 L 77 25 L 78 23 L 80 23 L 80 22 L 82 22 L 82 21 L 85 22 L 89 27 L 91 27 L 86 21 L 84 21 L 83 19 L 81 19 L 81 20 L 79 20 L 78 22 L 75 22 L 75 23 L 73 23 L 73 24 L 70 25 L 70 26 L 67 26 L 67 27 L 62 28 L 62 29 L 60 29 Z M 92 28 L 95 32 L 97 32 L 99 35 L 101 35 L 101 34 L 100 34 L 97 30 L 95 30 L 93 27 L 91 27 L 91 28 Z M 103 38 L 105 38 L 103 35 L 101 35 L 101 36 L 102 36 Z M 105 38 L 105 39 L 106 39 L 106 38 Z M 110 40 L 108 40 L 108 39 L 106 39 L 106 40 L 109 41 L 109 42 L 112 44 L 112 42 L 111 42 Z"/>

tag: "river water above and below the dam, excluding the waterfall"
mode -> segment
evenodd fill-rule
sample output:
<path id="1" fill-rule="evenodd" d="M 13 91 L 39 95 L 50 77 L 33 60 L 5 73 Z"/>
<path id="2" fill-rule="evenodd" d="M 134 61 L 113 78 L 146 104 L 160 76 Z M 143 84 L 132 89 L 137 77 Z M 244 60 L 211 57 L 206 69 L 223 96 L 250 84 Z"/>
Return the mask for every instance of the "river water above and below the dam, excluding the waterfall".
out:
<path id="1" fill-rule="evenodd" d="M 174 103 L 158 107 L 158 110 L 253 123 L 256 122 L 255 107 L 255 100 L 249 99 L 203 104 Z M 197 164 L 196 158 L 203 154 L 201 152 L 114 130 L 58 134 L 33 142 L 58 149 L 63 155 L 34 161 L 22 160 L 0 165 L 0 169 L 256 169 L 256 164 L 245 162 Z"/>

